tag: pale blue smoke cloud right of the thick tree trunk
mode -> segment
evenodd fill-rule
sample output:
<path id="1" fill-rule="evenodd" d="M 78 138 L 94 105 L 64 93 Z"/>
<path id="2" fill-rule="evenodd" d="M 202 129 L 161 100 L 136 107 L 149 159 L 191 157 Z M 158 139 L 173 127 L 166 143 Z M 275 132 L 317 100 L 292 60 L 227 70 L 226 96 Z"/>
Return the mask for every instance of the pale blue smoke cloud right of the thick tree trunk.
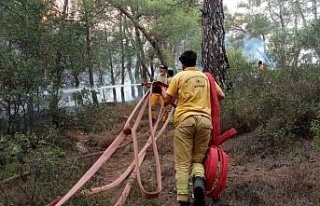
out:
<path id="1" fill-rule="evenodd" d="M 246 35 L 242 39 L 242 43 L 243 52 L 247 58 L 257 61 L 261 60 L 265 62 L 269 68 L 276 66 L 275 61 L 267 54 L 267 45 L 262 39 Z"/>

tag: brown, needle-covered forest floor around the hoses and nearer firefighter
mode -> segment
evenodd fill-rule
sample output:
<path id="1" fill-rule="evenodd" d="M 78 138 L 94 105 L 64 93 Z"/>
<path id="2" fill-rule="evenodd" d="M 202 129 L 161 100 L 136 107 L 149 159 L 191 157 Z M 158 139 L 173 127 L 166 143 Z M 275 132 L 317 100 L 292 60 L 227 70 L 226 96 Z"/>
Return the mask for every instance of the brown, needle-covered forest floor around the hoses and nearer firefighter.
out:
<path id="1" fill-rule="evenodd" d="M 133 107 L 115 107 L 115 114 L 125 117 Z M 121 118 L 120 118 L 121 119 Z M 121 132 L 125 118 L 116 123 L 111 131 L 100 134 L 85 135 L 71 132 L 69 135 L 85 145 L 88 153 L 108 148 L 114 138 Z M 159 198 L 146 200 L 137 186 L 134 187 L 125 205 L 166 205 L 175 206 L 175 180 L 173 161 L 173 126 L 168 126 L 158 139 L 162 170 L 163 190 Z M 139 147 L 149 137 L 146 120 L 139 130 Z M 245 205 L 320 205 L 320 152 L 312 149 L 309 140 L 292 141 L 291 144 L 267 144 L 261 138 L 261 132 L 241 134 L 222 145 L 229 155 L 229 174 L 226 187 L 218 200 L 208 201 L 208 205 L 245 206 Z M 94 146 L 90 146 L 94 145 Z M 99 156 L 92 156 L 92 162 Z M 133 161 L 131 136 L 125 140 L 120 149 L 99 170 L 91 186 L 111 183 L 119 177 Z M 154 190 L 155 167 L 152 149 L 149 148 L 141 166 L 143 183 L 148 190 Z M 99 177 L 99 178 L 98 178 Z M 123 184 L 104 192 L 103 196 L 114 203 L 123 190 Z"/>

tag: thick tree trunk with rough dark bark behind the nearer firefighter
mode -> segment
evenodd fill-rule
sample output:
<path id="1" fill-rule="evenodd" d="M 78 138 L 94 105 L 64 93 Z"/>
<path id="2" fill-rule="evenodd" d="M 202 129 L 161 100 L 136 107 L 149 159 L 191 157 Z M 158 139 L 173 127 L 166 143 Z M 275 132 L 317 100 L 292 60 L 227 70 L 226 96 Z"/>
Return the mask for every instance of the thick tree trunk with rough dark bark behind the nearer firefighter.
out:
<path id="1" fill-rule="evenodd" d="M 202 16 L 202 64 L 224 86 L 229 67 L 224 45 L 224 13 L 222 0 L 204 0 Z"/>

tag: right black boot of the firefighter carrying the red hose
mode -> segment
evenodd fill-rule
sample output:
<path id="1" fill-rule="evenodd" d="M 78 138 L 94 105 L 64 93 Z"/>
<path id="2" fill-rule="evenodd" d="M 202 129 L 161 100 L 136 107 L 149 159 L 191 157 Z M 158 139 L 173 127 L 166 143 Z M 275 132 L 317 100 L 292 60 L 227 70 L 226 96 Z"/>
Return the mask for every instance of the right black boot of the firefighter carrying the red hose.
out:
<path id="1" fill-rule="evenodd" d="M 193 178 L 193 194 L 194 202 L 193 206 L 205 206 L 205 187 L 204 187 L 204 178 L 203 177 L 194 177 Z"/>

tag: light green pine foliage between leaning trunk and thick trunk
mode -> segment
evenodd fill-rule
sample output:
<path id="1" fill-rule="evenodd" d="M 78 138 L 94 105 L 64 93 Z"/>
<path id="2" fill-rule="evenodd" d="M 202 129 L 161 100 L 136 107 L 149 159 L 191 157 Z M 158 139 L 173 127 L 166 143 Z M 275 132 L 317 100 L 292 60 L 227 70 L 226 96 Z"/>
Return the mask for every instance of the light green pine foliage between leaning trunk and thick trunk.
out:
<path id="1" fill-rule="evenodd" d="M 170 66 L 175 65 L 172 57 L 177 55 L 179 52 L 177 50 L 181 50 L 180 47 L 200 51 L 201 14 L 197 5 L 190 6 L 189 2 L 174 0 L 111 2 L 115 7 L 125 8 L 126 5 L 132 10 L 135 19 L 131 21 L 145 28 L 148 34 L 164 48 L 163 52 Z"/>

